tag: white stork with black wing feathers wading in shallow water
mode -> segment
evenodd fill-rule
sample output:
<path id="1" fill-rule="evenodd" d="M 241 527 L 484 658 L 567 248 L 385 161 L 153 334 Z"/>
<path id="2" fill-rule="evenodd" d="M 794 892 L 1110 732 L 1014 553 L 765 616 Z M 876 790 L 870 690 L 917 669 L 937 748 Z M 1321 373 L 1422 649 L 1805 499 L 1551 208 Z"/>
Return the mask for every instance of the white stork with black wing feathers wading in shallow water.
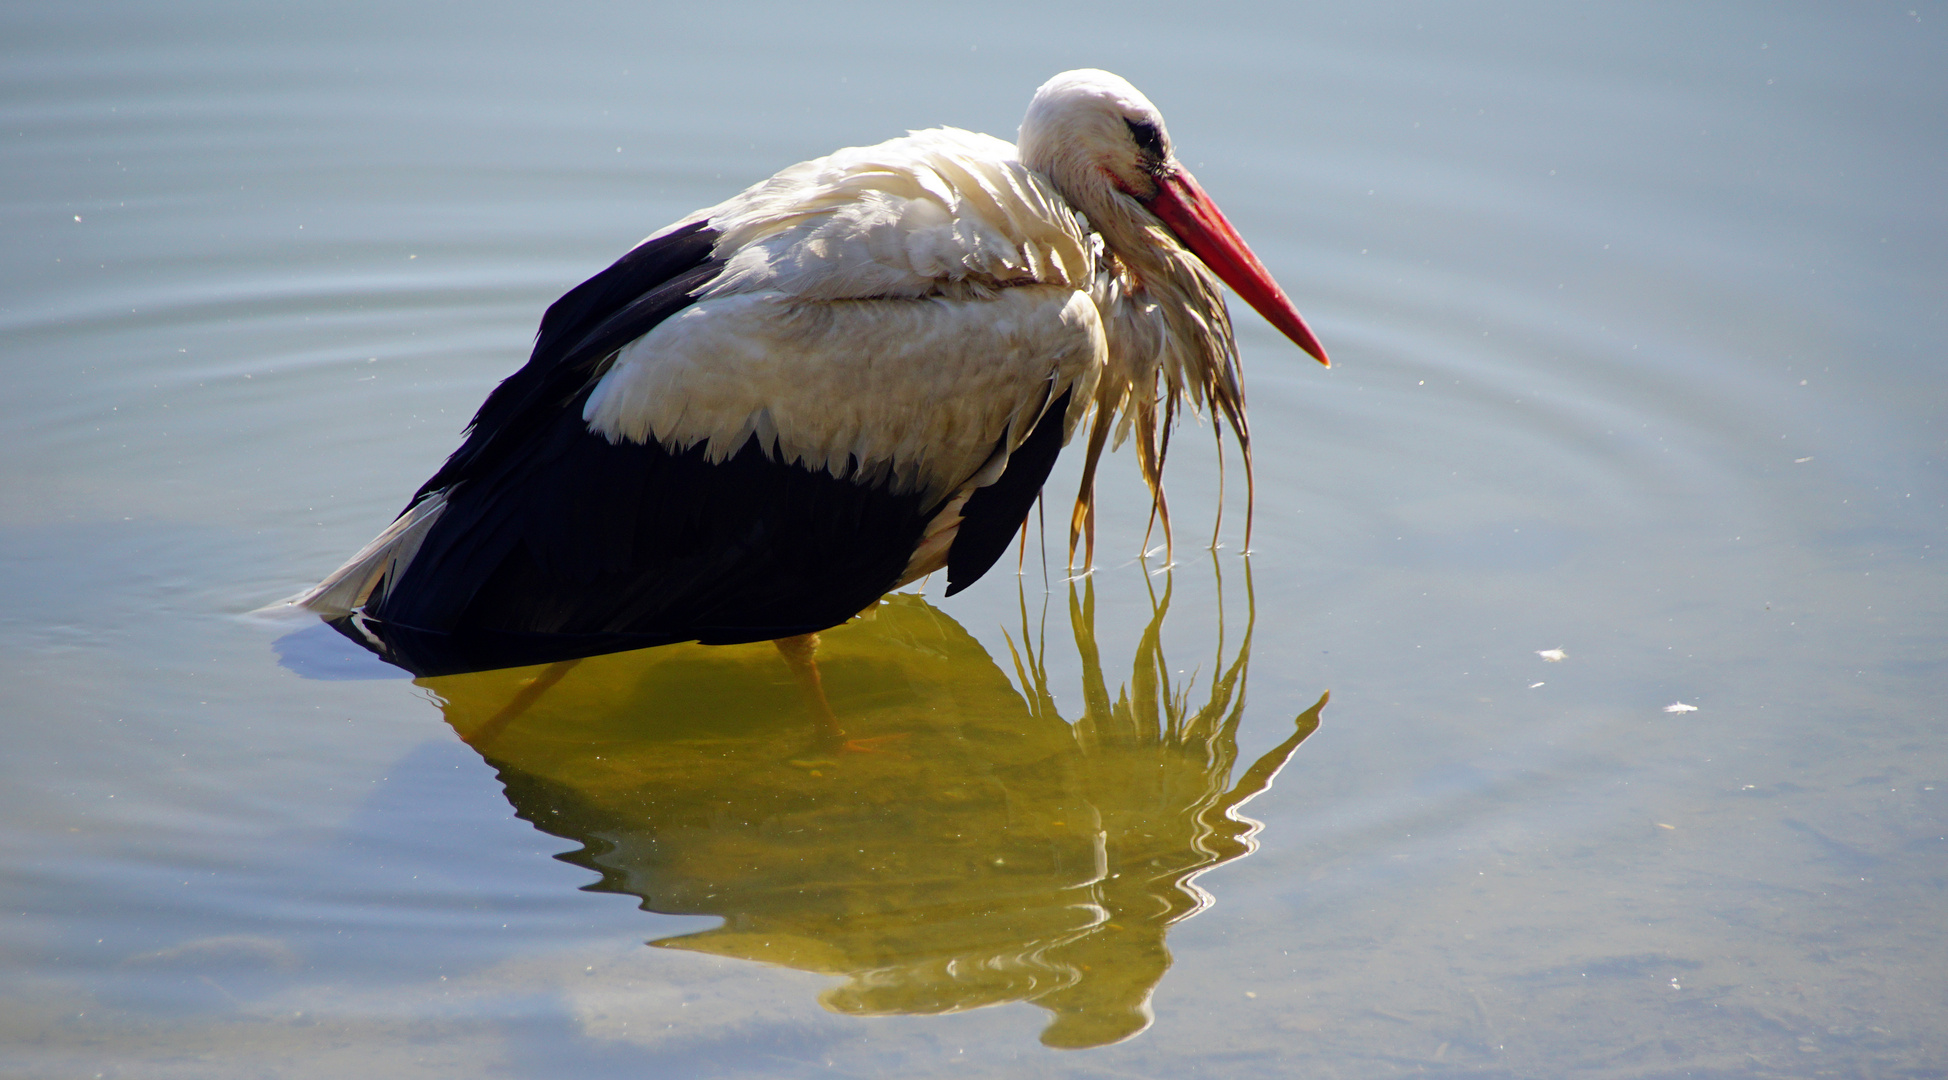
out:
<path id="1" fill-rule="evenodd" d="M 440 675 L 793 639 L 943 567 L 955 595 L 1085 417 L 1071 552 L 1112 427 L 1157 499 L 1184 400 L 1249 466 L 1218 279 L 1327 363 L 1108 72 L 1048 80 L 1019 150 L 933 129 L 791 166 L 547 308 L 399 519 L 290 602 Z"/>

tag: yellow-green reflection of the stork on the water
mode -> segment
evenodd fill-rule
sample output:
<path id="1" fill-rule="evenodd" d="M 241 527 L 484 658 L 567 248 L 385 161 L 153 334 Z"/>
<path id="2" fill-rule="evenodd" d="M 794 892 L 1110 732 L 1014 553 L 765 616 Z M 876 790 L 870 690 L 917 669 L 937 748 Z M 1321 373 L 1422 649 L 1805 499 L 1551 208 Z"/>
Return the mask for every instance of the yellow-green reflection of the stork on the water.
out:
<path id="1" fill-rule="evenodd" d="M 1255 848 L 1258 823 L 1237 809 L 1319 727 L 1327 698 L 1233 782 L 1249 618 L 1227 657 L 1219 606 L 1210 686 L 1177 684 L 1165 581 L 1112 700 L 1093 585 L 1071 585 L 1068 608 L 1083 667 L 1073 723 L 1027 604 L 1019 645 L 1009 636 L 1023 696 L 914 595 L 822 636 L 849 747 L 818 735 L 768 643 L 421 684 L 520 817 L 582 844 L 561 858 L 602 875 L 590 889 L 725 920 L 653 945 L 842 977 L 820 994 L 840 1014 L 1034 1002 L 1054 1014 L 1044 1043 L 1097 1047 L 1149 1025 L 1167 928 L 1212 903 L 1200 873 Z"/>

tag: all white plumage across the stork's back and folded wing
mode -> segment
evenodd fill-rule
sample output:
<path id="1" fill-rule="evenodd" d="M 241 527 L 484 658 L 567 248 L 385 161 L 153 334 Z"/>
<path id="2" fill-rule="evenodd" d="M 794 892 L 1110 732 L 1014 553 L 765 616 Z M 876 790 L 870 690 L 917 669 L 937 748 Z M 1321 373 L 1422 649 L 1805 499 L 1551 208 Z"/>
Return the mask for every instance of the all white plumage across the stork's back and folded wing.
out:
<path id="1" fill-rule="evenodd" d="M 758 435 L 775 460 L 945 495 L 1106 361 L 1091 232 L 1015 148 L 956 129 L 793 166 L 670 226 L 723 273 L 627 345 L 582 419 L 610 439 Z M 655 240 L 655 238 L 653 238 Z"/>

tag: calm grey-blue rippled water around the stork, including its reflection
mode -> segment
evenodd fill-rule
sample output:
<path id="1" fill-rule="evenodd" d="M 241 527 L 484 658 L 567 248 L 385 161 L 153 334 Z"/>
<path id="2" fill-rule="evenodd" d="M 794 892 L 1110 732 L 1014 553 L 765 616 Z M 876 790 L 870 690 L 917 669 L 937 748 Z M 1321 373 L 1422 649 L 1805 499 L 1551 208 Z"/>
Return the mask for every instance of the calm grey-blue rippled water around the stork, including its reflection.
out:
<path id="1" fill-rule="evenodd" d="M 10 6 L 0 1068 L 1944 1074 L 1944 27 Z M 1241 310 L 1249 559 L 1196 429 L 1169 571 L 1110 458 L 1073 608 L 1030 546 L 832 645 L 857 760 L 762 653 L 489 739 L 247 614 L 637 238 L 1083 64 L 1338 361 Z"/>

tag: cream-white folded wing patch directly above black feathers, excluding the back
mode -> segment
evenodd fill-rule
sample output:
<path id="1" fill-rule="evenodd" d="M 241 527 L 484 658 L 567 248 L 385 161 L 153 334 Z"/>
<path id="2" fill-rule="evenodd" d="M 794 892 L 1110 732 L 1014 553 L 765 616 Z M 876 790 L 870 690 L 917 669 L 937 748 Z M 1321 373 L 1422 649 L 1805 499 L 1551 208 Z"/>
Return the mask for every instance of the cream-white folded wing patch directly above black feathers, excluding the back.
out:
<path id="1" fill-rule="evenodd" d="M 1003 433 L 1027 439 L 1050 400 L 1079 384 L 1085 402 L 1105 353 L 1095 304 L 1062 287 L 992 300 L 723 296 L 623 349 L 582 419 L 618 441 L 705 443 L 713 462 L 756 435 L 773 460 L 943 495 Z"/>

